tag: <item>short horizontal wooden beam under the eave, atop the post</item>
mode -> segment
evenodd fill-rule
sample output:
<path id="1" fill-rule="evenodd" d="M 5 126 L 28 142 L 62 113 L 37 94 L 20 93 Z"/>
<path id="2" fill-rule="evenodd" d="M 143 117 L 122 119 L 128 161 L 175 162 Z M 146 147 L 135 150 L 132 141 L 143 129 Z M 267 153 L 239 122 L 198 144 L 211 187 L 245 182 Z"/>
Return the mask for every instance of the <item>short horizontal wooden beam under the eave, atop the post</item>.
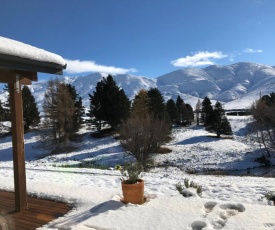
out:
<path id="1" fill-rule="evenodd" d="M 37 81 L 37 73 L 25 72 L 25 71 L 1 71 L 0 70 L 0 82 L 1 83 L 15 83 L 16 75 L 19 75 L 19 83 L 21 85 L 31 85 L 32 81 Z"/>

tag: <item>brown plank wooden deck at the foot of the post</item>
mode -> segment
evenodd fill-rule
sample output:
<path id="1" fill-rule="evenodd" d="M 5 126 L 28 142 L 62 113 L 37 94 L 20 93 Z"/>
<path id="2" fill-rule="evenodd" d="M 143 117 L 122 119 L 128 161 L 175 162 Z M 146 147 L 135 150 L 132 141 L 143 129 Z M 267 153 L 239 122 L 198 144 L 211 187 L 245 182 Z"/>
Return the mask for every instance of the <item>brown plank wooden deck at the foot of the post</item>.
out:
<path id="1" fill-rule="evenodd" d="M 0 191 L 0 230 L 32 230 L 63 216 L 71 207 L 51 200 L 28 197 L 28 210 L 16 213 L 14 193 Z"/>

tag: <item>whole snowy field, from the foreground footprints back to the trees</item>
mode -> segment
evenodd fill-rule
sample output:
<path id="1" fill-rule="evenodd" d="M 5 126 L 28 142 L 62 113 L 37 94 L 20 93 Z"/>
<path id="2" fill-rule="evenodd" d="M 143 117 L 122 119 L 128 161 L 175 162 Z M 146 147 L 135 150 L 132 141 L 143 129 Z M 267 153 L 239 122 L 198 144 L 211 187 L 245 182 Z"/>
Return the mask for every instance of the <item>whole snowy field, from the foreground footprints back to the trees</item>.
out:
<path id="1" fill-rule="evenodd" d="M 97 164 L 112 168 L 123 164 L 129 157 L 117 140 L 94 139 L 90 131 L 83 129 L 83 140 L 75 143 L 72 152 L 48 156 L 45 150 L 37 148 L 36 134 L 26 134 L 28 193 L 65 201 L 74 207 L 40 229 L 275 230 L 275 207 L 264 198 L 266 191 L 275 191 L 274 177 L 185 172 L 248 170 L 260 166 L 254 162 L 259 147 L 246 135 L 245 127 L 251 118 L 229 120 L 233 139 L 213 138 L 213 134 L 198 127 L 175 129 L 167 144 L 172 152 L 155 158 L 159 165 L 166 166 L 143 174 L 147 197 L 143 205 L 121 202 L 118 171 L 76 167 Z M 11 138 L 1 138 L 0 142 L 0 189 L 11 191 Z M 183 184 L 184 178 L 202 186 L 202 197 L 185 198 L 178 193 L 175 185 Z"/>

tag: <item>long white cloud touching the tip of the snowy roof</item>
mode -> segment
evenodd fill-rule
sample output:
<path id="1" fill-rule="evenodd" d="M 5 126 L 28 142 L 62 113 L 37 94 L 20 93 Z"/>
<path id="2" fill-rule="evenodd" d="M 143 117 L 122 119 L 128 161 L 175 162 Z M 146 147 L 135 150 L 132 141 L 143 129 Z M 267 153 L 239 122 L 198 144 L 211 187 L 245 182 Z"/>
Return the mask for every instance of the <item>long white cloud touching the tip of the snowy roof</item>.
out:
<path id="1" fill-rule="evenodd" d="M 65 59 L 67 68 L 65 72 L 69 74 L 79 74 L 85 72 L 100 72 L 107 74 L 125 74 L 129 72 L 137 72 L 136 69 L 124 69 L 115 66 L 98 65 L 94 61 L 80 61 Z"/>

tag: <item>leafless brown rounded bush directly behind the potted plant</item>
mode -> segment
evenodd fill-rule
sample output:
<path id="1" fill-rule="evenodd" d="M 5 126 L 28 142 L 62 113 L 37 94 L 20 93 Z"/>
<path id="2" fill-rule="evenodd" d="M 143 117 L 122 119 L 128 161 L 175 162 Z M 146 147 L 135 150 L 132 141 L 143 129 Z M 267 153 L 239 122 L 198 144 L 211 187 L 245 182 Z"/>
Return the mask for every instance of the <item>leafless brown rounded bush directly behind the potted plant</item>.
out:
<path id="1" fill-rule="evenodd" d="M 134 156 L 145 171 L 153 164 L 153 153 L 167 140 L 170 125 L 146 116 L 131 116 L 119 128 L 121 144 Z"/>

